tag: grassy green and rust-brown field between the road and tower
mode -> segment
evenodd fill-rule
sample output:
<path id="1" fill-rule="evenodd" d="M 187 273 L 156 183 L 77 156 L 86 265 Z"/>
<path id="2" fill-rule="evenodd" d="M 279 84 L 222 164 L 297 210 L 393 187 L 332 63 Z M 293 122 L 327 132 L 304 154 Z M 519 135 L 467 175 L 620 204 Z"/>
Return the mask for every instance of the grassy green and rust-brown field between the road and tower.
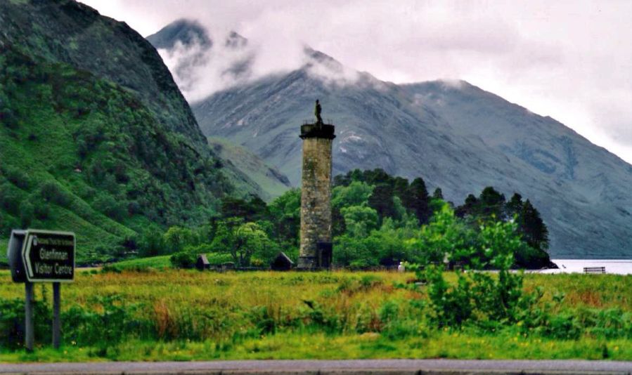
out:
<path id="1" fill-rule="evenodd" d="M 167 261 L 151 262 L 155 268 Z M 142 269 L 139 265 L 134 264 Z M 538 308 L 546 311 L 542 327 L 529 329 L 522 321 L 436 327 L 427 317 L 425 287 L 406 284 L 414 277 L 408 272 L 80 271 L 74 284 L 62 288 L 65 346 L 50 348 L 49 322 L 42 318 L 35 353 L 3 343 L 0 362 L 632 360 L 630 276 L 525 275 L 524 291 L 543 288 Z M 2 309 L 18 314 L 23 293 L 8 272 L 0 272 Z M 36 287 L 39 301 L 50 301 L 51 294 L 50 285 Z M 39 307 L 44 315 L 49 312 L 46 304 Z M 9 319 L 0 314 L 2 329 Z M 0 334 L 6 342 L 7 332 Z"/>

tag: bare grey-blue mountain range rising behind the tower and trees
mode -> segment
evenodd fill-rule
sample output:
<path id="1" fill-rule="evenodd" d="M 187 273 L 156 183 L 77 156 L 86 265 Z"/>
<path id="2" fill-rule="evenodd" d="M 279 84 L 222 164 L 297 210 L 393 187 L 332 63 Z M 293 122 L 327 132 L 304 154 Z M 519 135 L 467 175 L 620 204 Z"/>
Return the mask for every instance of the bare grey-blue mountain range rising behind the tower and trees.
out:
<path id="1" fill-rule="evenodd" d="M 168 39 L 165 29 L 149 40 Z M 548 224 L 553 258 L 632 257 L 632 166 L 616 155 L 465 81 L 393 84 L 309 47 L 304 57 L 295 70 L 191 100 L 202 132 L 242 145 L 299 185 L 299 126 L 313 121 L 318 98 L 336 126 L 334 174 L 421 176 L 455 204 L 489 185 L 518 192 Z"/>

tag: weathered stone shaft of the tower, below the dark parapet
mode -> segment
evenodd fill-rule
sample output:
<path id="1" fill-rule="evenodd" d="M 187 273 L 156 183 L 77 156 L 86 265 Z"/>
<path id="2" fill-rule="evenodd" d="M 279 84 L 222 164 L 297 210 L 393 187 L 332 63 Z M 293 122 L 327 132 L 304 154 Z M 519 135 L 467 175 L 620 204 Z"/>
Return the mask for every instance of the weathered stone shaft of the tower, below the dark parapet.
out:
<path id="1" fill-rule="evenodd" d="M 331 242 L 332 138 L 303 138 L 299 268 L 318 267 L 316 244 Z"/>

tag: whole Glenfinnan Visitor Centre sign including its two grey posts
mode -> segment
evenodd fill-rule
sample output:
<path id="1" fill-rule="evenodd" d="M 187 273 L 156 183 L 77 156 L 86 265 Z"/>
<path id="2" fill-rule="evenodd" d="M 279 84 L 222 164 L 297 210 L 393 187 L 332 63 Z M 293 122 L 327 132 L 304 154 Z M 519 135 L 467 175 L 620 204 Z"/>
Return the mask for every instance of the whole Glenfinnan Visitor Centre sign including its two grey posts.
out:
<path id="1" fill-rule="evenodd" d="M 53 283 L 53 347 L 59 348 L 61 282 L 75 280 L 75 233 L 50 230 L 13 230 L 7 257 L 14 282 L 25 283 L 25 347 L 32 351 L 33 283 Z"/>

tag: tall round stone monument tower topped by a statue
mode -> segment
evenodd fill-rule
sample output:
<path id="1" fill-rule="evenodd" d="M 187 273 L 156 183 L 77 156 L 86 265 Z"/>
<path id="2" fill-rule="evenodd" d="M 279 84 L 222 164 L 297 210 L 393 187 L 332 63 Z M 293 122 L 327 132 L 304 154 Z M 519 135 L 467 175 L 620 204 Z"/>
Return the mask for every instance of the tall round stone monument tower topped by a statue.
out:
<path id="1" fill-rule="evenodd" d="M 330 268 L 331 243 L 331 143 L 335 128 L 324 124 L 316 100 L 316 123 L 301 126 L 303 172 L 301 187 L 301 250 L 297 267 Z"/>

